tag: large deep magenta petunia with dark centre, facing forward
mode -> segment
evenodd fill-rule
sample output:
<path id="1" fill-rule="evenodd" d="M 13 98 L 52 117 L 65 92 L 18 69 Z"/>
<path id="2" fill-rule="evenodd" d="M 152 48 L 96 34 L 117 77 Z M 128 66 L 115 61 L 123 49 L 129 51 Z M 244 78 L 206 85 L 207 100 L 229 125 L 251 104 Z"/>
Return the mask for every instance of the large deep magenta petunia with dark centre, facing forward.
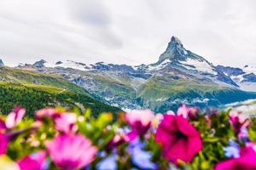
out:
<path id="1" fill-rule="evenodd" d="M 190 162 L 202 149 L 201 134 L 183 116 L 165 115 L 155 140 L 163 146 L 163 155 L 178 164 L 178 160 Z"/>

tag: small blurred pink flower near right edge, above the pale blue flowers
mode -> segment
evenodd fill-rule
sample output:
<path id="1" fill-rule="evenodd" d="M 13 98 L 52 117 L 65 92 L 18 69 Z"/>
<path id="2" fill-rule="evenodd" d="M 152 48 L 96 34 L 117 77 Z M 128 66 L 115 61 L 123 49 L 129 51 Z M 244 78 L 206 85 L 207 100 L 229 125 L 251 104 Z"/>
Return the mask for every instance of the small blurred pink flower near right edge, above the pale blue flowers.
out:
<path id="1" fill-rule="evenodd" d="M 230 122 L 236 133 L 240 132 L 241 127 L 248 127 L 249 125 L 249 121 L 237 111 L 230 111 Z"/>

